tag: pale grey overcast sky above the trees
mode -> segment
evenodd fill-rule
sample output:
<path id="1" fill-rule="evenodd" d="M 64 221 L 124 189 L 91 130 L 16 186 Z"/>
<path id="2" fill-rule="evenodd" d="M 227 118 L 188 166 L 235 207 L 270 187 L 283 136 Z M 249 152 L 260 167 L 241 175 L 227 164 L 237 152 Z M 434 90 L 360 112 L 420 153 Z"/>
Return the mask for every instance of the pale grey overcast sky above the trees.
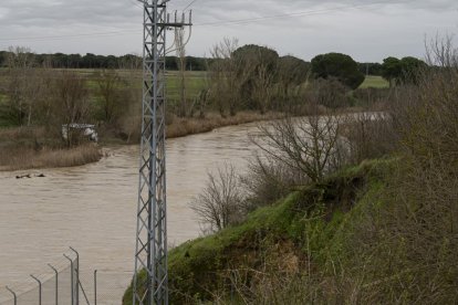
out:
<path id="1" fill-rule="evenodd" d="M 168 10 L 190 2 L 171 0 Z M 425 36 L 458 35 L 457 0 L 197 0 L 190 8 L 195 27 L 187 53 L 196 56 L 229 36 L 304 60 L 342 52 L 382 61 L 423 57 Z M 136 0 L 1 0 L 0 50 L 140 53 L 142 20 Z"/>

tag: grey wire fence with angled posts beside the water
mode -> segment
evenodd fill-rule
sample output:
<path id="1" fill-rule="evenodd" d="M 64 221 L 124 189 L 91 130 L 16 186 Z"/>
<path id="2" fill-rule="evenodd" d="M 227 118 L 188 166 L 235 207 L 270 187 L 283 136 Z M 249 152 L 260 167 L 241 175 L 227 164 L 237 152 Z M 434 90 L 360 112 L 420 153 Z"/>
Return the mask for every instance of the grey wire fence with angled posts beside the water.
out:
<path id="1" fill-rule="evenodd" d="M 82 270 L 79 253 L 62 260 L 21 284 L 0 287 L 0 305 L 118 305 L 132 281 L 132 271 Z"/>

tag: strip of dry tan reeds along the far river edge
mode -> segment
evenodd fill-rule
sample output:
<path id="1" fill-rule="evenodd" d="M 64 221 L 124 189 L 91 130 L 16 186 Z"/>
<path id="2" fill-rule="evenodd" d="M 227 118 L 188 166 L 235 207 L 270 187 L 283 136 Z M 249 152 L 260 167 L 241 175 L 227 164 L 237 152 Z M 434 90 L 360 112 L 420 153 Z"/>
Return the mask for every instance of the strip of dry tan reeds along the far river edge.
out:
<path id="1" fill-rule="evenodd" d="M 281 113 L 261 115 L 241 112 L 236 116 L 221 117 L 210 113 L 205 118 L 174 117 L 167 125 L 167 138 L 211 132 L 216 128 L 281 118 Z M 83 166 L 98 161 L 105 145 L 125 145 L 139 141 L 139 134 L 129 135 L 127 140 L 115 136 L 102 136 L 101 145 L 85 144 L 74 148 L 62 148 L 60 139 L 50 137 L 41 127 L 17 127 L 0 129 L 0 171 L 43 169 Z"/>

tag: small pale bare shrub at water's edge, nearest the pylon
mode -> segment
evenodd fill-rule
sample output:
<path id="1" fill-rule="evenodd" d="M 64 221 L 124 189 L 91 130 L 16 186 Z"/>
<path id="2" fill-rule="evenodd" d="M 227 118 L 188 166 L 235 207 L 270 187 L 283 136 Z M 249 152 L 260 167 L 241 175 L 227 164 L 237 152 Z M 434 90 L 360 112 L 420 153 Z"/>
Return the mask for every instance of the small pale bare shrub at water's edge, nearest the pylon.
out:
<path id="1" fill-rule="evenodd" d="M 242 202 L 243 196 L 236 169 L 226 165 L 216 175 L 208 173 L 207 186 L 194 198 L 191 209 L 202 223 L 216 232 L 240 219 Z"/>

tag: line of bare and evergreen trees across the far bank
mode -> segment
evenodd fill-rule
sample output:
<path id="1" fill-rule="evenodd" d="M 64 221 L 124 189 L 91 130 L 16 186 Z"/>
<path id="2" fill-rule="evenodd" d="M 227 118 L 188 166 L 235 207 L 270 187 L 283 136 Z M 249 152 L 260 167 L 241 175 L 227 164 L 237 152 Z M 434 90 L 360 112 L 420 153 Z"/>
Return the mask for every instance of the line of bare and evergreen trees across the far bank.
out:
<path id="1" fill-rule="evenodd" d="M 322 107 L 339 108 L 355 106 L 360 96 L 373 98 L 378 94 L 358 94 L 365 73 L 361 64 L 346 54 L 320 54 L 306 62 L 292 55 L 281 56 L 268 46 L 239 46 L 237 39 L 222 40 L 209 53 L 209 59 L 180 59 L 178 54 L 167 57 L 168 70 L 208 72 L 201 74 L 202 84 L 192 95 L 179 88 L 186 86 L 186 74 L 178 77 L 181 101 L 169 98 L 169 115 L 194 117 L 198 114 L 204 118 L 208 112 L 217 112 L 228 117 L 242 111 L 308 114 L 310 101 Z M 11 48 L 0 53 L 0 62 L 3 66 L 0 70 L 0 120 L 3 125 L 55 127 L 85 122 L 106 126 L 127 138 L 137 134 L 140 57 L 59 53 L 48 56 L 25 48 Z M 105 69 L 113 66 L 122 70 Z M 371 69 L 369 64 L 367 66 Z M 378 69 L 396 85 L 415 82 L 414 75 L 421 66 L 426 64 L 414 57 L 398 62 L 389 57 L 379 67 L 374 64 L 372 69 Z M 50 67 L 93 67 L 95 71 L 79 75 L 74 71 L 55 72 Z M 60 122 L 52 122 L 58 117 Z"/>

